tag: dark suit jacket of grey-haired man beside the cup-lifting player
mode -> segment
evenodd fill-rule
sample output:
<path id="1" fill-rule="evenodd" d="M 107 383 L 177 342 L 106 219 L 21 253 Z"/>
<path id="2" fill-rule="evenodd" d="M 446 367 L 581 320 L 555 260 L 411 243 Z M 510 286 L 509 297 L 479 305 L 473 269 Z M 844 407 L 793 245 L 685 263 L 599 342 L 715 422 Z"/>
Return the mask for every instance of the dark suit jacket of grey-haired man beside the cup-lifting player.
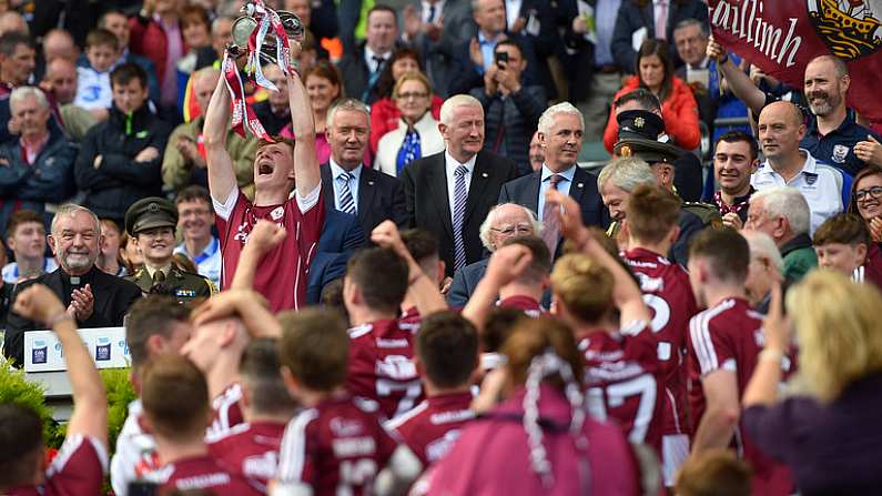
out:
<path id="1" fill-rule="evenodd" d="M 323 164 L 322 190 L 325 198 L 325 207 L 336 210 L 334 200 L 334 178 L 331 176 L 331 165 Z M 377 170 L 362 166 L 358 176 L 358 206 L 356 212 L 358 223 L 365 236 L 371 236 L 374 227 L 383 221 L 391 219 L 398 226 L 407 224 L 407 205 L 404 200 L 404 189 L 397 178 L 384 174 Z"/>

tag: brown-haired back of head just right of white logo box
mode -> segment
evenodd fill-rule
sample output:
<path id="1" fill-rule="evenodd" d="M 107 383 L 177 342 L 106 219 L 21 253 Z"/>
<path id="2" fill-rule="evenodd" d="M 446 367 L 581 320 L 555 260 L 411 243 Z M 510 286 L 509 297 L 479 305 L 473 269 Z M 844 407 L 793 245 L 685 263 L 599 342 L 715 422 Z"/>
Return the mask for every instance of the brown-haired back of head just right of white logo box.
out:
<path id="1" fill-rule="evenodd" d="M 190 325 L 190 308 L 171 296 L 148 296 L 138 300 L 125 322 L 125 343 L 132 355 L 132 367 L 139 368 L 150 358 L 152 336 L 170 340 L 180 325 Z"/>

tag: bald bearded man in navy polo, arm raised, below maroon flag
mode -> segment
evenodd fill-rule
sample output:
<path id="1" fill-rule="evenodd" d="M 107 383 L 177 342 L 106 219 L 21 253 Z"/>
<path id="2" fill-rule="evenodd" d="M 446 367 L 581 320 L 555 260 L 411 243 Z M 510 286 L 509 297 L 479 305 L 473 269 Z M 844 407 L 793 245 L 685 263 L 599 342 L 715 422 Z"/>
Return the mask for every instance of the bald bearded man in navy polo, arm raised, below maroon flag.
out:
<path id="1" fill-rule="evenodd" d="M 780 98 L 753 84 L 750 77 L 741 71 L 726 50 L 711 40 L 708 57 L 719 61 L 719 68 L 739 100 L 759 115 L 762 109 Z M 882 139 L 855 122 L 855 112 L 845 107 L 845 93 L 851 84 L 849 69 L 842 59 L 833 55 L 819 55 L 805 65 L 805 99 L 809 102 L 808 129 L 800 141 L 818 160 L 854 175 L 866 164 L 882 165 Z M 783 92 L 775 92 L 784 94 Z"/>

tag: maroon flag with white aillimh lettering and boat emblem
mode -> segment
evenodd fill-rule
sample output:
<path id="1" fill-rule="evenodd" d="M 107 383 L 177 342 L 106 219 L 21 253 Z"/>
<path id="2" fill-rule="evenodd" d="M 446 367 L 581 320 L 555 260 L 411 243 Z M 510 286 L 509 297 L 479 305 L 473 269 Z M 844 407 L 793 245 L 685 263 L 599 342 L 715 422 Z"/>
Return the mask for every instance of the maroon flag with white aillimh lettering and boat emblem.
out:
<path id="1" fill-rule="evenodd" d="M 802 88 L 811 59 L 849 65 L 848 103 L 882 122 L 882 0 L 710 0 L 713 38 L 766 73 Z"/>

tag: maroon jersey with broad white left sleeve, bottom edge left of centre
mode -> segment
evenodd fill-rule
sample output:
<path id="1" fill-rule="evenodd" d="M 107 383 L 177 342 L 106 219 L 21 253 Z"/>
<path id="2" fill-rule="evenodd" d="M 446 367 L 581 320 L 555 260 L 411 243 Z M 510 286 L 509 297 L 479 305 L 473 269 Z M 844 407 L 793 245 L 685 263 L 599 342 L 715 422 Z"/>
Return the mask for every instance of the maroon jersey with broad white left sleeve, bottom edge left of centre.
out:
<path id="1" fill-rule="evenodd" d="M 305 484 L 315 496 L 371 494 L 396 447 L 376 413 L 348 395 L 331 397 L 288 423 L 278 483 Z"/>

